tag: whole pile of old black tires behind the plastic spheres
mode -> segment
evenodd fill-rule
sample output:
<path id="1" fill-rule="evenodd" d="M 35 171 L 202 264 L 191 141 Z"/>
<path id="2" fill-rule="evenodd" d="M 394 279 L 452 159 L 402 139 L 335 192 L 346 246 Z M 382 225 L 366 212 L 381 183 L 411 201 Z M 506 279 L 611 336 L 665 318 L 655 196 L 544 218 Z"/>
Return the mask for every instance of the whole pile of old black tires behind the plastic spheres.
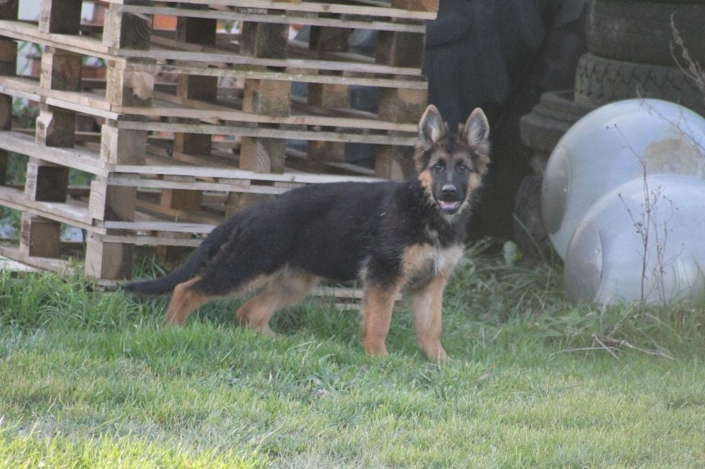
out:
<path id="1" fill-rule="evenodd" d="M 529 261 L 551 251 L 541 223 L 541 177 L 548 155 L 582 115 L 613 101 L 658 98 L 705 115 L 705 0 L 588 0 L 587 54 L 575 88 L 548 92 L 522 117 L 533 175 L 515 201 L 515 239 Z"/>

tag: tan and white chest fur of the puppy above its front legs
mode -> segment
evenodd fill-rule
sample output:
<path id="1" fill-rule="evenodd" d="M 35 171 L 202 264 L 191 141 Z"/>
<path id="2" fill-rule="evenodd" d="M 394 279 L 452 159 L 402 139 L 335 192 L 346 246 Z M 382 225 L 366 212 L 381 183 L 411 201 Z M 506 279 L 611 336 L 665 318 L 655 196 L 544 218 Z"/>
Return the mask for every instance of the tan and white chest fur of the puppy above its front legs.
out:
<path id="1" fill-rule="evenodd" d="M 434 277 L 450 276 L 463 254 L 462 244 L 441 246 L 438 242 L 413 244 L 403 255 L 402 274 L 411 288 L 423 287 Z"/>

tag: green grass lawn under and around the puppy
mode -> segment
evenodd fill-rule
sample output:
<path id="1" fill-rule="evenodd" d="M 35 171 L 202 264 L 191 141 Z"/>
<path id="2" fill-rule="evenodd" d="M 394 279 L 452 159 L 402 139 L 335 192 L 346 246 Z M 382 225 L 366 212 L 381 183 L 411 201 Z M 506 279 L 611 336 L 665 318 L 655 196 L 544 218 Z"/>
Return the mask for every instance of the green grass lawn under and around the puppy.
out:
<path id="1" fill-rule="evenodd" d="M 163 329 L 166 299 L 0 274 L 0 467 L 705 465 L 701 306 L 575 307 L 557 268 L 466 259 L 439 366 L 406 311 L 370 358 L 324 300 L 276 339 L 237 304 Z"/>

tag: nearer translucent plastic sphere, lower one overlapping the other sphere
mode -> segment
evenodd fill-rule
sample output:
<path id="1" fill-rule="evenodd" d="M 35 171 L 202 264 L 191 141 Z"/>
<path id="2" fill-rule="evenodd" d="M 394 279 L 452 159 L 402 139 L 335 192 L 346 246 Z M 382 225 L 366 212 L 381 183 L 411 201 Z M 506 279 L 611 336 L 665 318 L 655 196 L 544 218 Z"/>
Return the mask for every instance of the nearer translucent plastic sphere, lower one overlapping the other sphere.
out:
<path id="1" fill-rule="evenodd" d="M 603 195 L 565 255 L 571 301 L 673 304 L 697 299 L 705 278 L 705 181 L 650 175 Z"/>

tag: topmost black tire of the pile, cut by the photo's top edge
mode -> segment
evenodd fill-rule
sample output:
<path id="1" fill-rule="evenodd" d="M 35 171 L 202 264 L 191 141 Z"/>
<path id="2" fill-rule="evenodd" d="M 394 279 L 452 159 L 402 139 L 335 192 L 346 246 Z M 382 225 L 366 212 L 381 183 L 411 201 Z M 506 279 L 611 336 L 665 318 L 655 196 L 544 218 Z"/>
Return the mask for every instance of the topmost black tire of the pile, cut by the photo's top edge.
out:
<path id="1" fill-rule="evenodd" d="M 586 20 L 587 49 L 596 56 L 619 61 L 670 66 L 680 63 L 687 67 L 682 47 L 673 37 L 671 15 L 692 61 L 705 65 L 705 2 L 591 1 Z"/>

